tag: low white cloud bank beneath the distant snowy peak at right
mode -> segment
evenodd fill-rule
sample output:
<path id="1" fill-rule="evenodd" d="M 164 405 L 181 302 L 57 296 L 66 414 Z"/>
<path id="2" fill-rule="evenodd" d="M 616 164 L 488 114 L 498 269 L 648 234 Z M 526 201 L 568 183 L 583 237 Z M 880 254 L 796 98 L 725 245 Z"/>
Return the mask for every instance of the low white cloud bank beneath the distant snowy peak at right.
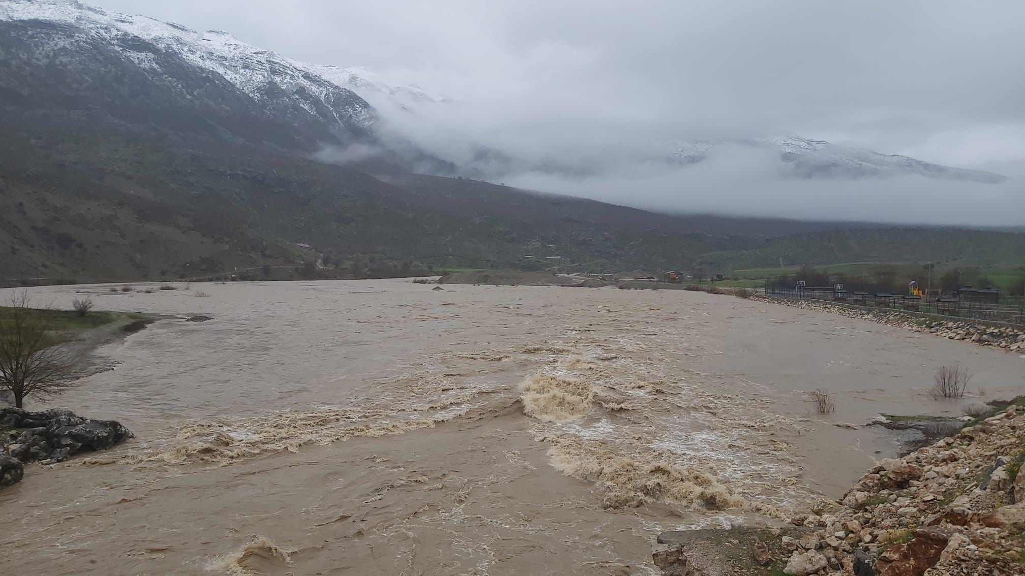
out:
<path id="1" fill-rule="evenodd" d="M 1021 225 L 1025 174 L 1007 175 L 998 184 L 925 176 L 797 179 L 787 178 L 773 155 L 736 149 L 690 166 L 638 163 L 585 177 L 535 171 L 508 176 L 505 183 L 662 212 Z"/>

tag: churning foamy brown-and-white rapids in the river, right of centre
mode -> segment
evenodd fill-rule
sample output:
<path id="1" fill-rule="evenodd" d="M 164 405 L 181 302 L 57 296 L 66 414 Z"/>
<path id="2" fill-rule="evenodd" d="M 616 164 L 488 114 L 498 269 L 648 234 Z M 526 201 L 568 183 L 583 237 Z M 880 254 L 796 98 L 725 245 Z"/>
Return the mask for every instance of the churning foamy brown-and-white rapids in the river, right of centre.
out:
<path id="1" fill-rule="evenodd" d="M 521 385 L 523 412 L 537 420 L 535 438 L 549 445 L 554 467 L 594 483 L 608 508 L 668 502 L 785 518 L 807 499 L 786 444 L 765 437 L 787 420 L 751 417 L 757 384 L 713 392 L 709 382 L 736 383 L 694 370 L 667 374 L 652 359 L 610 354 L 617 345 L 631 343 L 585 347 Z"/>

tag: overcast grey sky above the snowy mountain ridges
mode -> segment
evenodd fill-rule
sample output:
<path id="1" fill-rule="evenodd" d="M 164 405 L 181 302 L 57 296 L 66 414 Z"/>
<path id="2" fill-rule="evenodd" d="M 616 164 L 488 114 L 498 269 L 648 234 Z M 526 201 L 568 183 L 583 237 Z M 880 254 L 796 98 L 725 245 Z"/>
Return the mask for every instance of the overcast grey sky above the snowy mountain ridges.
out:
<path id="1" fill-rule="evenodd" d="M 92 0 L 366 66 L 512 121 L 1025 160 L 1025 2 Z"/>

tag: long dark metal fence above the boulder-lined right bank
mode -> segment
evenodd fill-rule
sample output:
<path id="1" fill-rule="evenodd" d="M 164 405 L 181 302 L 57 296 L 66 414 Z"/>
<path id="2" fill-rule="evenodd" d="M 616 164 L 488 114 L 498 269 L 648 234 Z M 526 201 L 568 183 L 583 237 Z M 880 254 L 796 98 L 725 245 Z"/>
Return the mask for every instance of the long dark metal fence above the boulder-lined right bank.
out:
<path id="1" fill-rule="evenodd" d="M 766 282 L 765 293 L 779 298 L 826 300 L 876 310 L 908 311 L 944 318 L 954 317 L 1025 326 L 1025 298 L 1004 302 L 983 302 L 975 298 L 956 296 L 936 297 L 930 294 L 915 298 L 889 292 L 848 290 L 838 284 L 807 286 L 803 282 L 792 280 L 770 280 Z"/>

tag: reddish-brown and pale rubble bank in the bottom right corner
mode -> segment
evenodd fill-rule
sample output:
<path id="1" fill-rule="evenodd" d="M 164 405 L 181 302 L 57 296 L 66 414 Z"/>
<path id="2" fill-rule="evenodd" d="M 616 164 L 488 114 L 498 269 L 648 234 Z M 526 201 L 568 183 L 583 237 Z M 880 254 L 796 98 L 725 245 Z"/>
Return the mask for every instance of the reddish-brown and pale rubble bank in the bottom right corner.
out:
<path id="1" fill-rule="evenodd" d="M 883 460 L 840 501 L 792 519 L 768 544 L 754 542 L 724 574 L 1025 574 L 1021 400 L 932 446 Z M 672 542 L 672 534 L 660 541 Z M 666 550 L 655 553 L 664 574 L 706 576 L 719 569 L 696 565 L 685 547 L 670 550 L 672 562 Z"/>

